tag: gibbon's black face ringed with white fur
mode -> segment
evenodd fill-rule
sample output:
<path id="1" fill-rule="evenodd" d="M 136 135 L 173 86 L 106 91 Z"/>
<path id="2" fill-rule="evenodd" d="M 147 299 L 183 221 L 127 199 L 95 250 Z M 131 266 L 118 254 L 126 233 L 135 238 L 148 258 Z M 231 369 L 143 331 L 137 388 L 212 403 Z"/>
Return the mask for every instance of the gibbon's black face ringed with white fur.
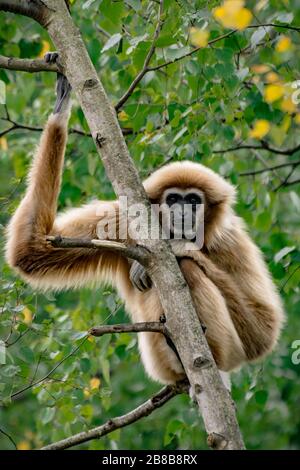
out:
<path id="1" fill-rule="evenodd" d="M 204 193 L 198 188 L 166 189 L 160 200 L 161 223 L 171 239 L 194 241 L 204 221 Z"/>

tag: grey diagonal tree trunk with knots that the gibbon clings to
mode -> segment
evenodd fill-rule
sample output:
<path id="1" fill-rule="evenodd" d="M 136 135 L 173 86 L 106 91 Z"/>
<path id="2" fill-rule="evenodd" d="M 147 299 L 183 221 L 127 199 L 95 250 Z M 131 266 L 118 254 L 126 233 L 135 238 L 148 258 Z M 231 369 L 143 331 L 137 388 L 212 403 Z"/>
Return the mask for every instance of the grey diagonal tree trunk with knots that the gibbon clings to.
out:
<path id="1" fill-rule="evenodd" d="M 33 5 L 32 14 L 30 5 Z M 150 207 L 115 110 L 107 98 L 65 1 L 0 0 L 0 9 L 32 16 L 47 29 L 60 55 L 64 73 L 85 114 L 116 194 L 127 196 L 128 205 L 140 203 Z M 158 291 L 166 316 L 166 326 L 201 411 L 209 436 L 208 443 L 216 449 L 243 449 L 234 404 L 221 380 L 176 258 L 164 240 L 149 238 L 143 244 L 150 252 L 145 264 Z"/>

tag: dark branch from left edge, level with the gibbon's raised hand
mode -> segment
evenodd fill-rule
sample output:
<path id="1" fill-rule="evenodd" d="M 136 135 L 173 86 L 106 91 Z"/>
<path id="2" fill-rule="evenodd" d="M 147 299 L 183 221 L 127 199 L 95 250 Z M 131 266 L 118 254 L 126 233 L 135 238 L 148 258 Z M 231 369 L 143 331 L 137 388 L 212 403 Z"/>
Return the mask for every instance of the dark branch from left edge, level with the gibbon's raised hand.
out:
<path id="1" fill-rule="evenodd" d="M 57 64 L 45 62 L 44 59 L 18 59 L 0 55 L 0 69 L 19 70 L 20 72 L 61 72 Z"/>

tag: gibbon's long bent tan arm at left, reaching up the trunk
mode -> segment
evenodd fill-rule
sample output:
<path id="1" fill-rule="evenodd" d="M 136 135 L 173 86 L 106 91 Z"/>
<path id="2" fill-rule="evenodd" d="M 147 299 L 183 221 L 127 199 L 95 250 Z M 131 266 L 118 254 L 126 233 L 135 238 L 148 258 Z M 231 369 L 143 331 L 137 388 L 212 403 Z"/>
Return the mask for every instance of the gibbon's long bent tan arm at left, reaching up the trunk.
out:
<path id="1" fill-rule="evenodd" d="M 55 54 L 47 60 L 56 60 Z M 6 259 L 33 286 L 62 289 L 87 282 L 116 281 L 131 287 L 128 262 L 120 255 L 100 250 L 54 248 L 46 235 L 97 237 L 102 206 L 115 209 L 117 202 L 89 204 L 56 220 L 57 198 L 67 140 L 71 87 L 58 75 L 57 100 L 42 134 L 28 177 L 26 194 L 7 230 Z M 100 215 L 99 215 L 100 214 Z"/>

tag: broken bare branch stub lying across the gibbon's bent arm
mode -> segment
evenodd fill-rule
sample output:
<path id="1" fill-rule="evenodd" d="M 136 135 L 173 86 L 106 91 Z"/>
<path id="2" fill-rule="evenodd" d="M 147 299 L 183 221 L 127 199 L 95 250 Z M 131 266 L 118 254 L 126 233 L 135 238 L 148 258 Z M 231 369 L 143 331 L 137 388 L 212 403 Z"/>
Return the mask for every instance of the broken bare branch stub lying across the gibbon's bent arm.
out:
<path id="1" fill-rule="evenodd" d="M 101 249 L 121 253 L 125 257 L 135 259 L 143 265 L 147 265 L 149 262 L 149 250 L 143 246 L 125 245 L 125 243 L 110 240 L 68 238 L 61 236 L 47 236 L 46 239 L 56 248 Z"/>

